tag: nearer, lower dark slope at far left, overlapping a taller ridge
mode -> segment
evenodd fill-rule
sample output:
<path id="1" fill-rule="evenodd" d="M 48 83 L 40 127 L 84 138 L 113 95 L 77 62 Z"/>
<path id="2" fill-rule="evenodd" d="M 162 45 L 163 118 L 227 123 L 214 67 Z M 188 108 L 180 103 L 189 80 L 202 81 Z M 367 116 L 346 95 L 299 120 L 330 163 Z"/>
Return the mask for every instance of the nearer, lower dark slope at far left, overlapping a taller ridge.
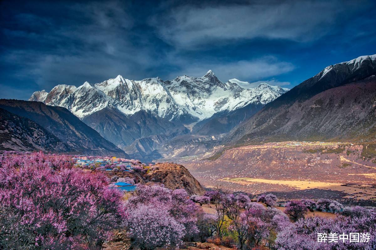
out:
<path id="1" fill-rule="evenodd" d="M 0 108 L 0 150 L 63 153 L 71 149 L 35 122 Z"/>

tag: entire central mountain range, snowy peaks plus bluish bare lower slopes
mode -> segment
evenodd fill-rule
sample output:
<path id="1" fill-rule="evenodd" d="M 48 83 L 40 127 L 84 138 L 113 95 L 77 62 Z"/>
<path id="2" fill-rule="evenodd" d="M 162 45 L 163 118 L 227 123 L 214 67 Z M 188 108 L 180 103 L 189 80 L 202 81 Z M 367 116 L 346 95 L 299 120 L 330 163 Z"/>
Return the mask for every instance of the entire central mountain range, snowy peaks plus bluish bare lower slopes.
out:
<path id="1" fill-rule="evenodd" d="M 255 88 L 238 83 L 221 82 L 211 70 L 200 78 L 184 75 L 170 81 L 133 81 L 119 75 L 80 87 L 57 85 L 49 93 L 36 91 L 29 100 L 67 108 L 131 156 L 151 160 L 183 150 L 192 139 L 216 140 L 213 135 L 229 132 L 288 91 L 265 83 Z M 165 147 L 176 138 L 180 143 Z"/>

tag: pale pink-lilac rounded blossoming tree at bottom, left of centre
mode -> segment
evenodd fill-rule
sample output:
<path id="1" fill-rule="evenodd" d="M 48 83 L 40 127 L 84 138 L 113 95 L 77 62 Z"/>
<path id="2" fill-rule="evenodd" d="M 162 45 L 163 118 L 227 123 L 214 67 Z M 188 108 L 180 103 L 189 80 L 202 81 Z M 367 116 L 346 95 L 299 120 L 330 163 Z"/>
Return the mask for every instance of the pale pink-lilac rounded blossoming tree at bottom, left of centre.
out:
<path id="1" fill-rule="evenodd" d="M 126 208 L 125 227 L 135 246 L 141 249 L 179 246 L 183 237 L 198 233 L 199 207 L 183 189 L 139 185 Z"/>

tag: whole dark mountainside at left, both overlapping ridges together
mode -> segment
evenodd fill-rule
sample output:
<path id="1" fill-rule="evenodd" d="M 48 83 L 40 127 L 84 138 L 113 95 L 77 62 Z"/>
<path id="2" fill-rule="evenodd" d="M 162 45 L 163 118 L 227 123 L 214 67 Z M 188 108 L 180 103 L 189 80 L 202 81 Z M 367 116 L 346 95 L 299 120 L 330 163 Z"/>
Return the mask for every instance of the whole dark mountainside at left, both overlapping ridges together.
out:
<path id="1" fill-rule="evenodd" d="M 66 108 L 0 99 L 2 150 L 85 153 L 127 157 Z"/>

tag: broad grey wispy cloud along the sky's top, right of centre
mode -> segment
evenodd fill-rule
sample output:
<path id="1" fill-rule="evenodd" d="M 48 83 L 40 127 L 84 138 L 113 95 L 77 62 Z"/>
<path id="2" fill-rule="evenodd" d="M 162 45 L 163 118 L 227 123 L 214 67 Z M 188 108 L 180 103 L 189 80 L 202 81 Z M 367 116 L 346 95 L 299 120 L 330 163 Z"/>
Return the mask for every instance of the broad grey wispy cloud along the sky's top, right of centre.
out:
<path id="1" fill-rule="evenodd" d="M 307 42 L 326 35 L 355 4 L 303 0 L 183 5 L 153 16 L 150 24 L 162 39 L 185 49 L 254 38 Z"/>

